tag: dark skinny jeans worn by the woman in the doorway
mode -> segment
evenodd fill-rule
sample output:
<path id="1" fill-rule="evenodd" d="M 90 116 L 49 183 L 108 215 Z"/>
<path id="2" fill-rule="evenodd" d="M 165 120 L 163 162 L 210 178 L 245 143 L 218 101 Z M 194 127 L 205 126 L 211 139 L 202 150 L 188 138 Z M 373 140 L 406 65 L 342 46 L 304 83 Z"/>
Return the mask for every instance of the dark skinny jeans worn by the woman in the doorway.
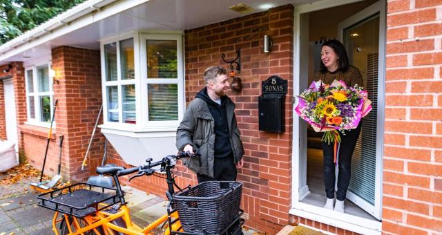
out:
<path id="1" fill-rule="evenodd" d="M 340 147 L 339 156 L 337 158 L 339 173 L 338 173 L 338 191 L 336 192 L 336 199 L 344 200 L 347 194 L 348 185 L 350 183 L 350 177 L 352 176 L 352 155 L 354 147 L 356 147 L 356 141 L 358 140 L 359 133 L 361 133 L 362 122 L 356 129 L 345 131 L 345 135 L 340 135 Z M 323 144 L 324 154 L 324 185 L 325 194 L 327 198 L 334 198 L 334 184 L 335 184 L 335 163 L 334 161 L 334 143 Z"/>

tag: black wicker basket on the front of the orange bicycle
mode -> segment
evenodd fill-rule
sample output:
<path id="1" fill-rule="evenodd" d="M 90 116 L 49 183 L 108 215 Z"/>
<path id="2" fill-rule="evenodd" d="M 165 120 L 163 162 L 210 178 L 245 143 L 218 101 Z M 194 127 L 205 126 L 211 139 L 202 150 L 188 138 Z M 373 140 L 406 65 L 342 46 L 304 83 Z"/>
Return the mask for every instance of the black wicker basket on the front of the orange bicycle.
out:
<path id="1" fill-rule="evenodd" d="M 238 217 L 242 182 L 208 181 L 173 196 L 184 232 L 220 234 Z"/>

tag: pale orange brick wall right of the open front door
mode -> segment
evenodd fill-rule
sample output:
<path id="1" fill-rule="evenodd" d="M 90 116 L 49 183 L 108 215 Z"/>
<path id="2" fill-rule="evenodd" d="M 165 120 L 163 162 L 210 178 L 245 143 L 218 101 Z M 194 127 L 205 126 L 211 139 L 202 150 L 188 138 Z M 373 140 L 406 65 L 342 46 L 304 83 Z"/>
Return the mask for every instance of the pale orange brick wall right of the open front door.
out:
<path id="1" fill-rule="evenodd" d="M 441 1 L 387 1 L 383 232 L 442 232 Z"/>

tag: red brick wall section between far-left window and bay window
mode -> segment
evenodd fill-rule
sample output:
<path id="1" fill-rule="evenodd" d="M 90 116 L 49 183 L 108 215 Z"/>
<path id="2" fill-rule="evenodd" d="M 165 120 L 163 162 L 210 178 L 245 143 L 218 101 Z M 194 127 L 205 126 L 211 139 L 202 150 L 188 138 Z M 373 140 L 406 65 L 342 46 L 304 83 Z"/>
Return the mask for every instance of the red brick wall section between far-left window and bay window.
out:
<path id="1" fill-rule="evenodd" d="M 102 105 L 99 50 L 54 48 L 52 68 L 59 81 L 54 83 L 54 99 L 58 99 L 59 104 L 57 136 L 64 135 L 61 173 L 65 180 L 78 182 L 87 178 L 90 171 L 95 171 L 103 154 L 104 136 L 97 129 L 87 166 L 84 171 L 80 170 Z"/>

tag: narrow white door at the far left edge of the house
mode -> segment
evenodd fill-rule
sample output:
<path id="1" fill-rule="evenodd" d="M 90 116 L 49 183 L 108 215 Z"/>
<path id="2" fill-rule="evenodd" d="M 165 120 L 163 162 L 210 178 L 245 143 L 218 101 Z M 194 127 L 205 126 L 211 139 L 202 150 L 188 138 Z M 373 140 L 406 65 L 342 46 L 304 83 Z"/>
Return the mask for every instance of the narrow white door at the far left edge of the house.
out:
<path id="1" fill-rule="evenodd" d="M 17 116 L 15 115 L 15 93 L 12 79 L 3 80 L 5 91 L 6 138 L 15 143 L 15 151 L 19 151 L 17 138 Z"/>

